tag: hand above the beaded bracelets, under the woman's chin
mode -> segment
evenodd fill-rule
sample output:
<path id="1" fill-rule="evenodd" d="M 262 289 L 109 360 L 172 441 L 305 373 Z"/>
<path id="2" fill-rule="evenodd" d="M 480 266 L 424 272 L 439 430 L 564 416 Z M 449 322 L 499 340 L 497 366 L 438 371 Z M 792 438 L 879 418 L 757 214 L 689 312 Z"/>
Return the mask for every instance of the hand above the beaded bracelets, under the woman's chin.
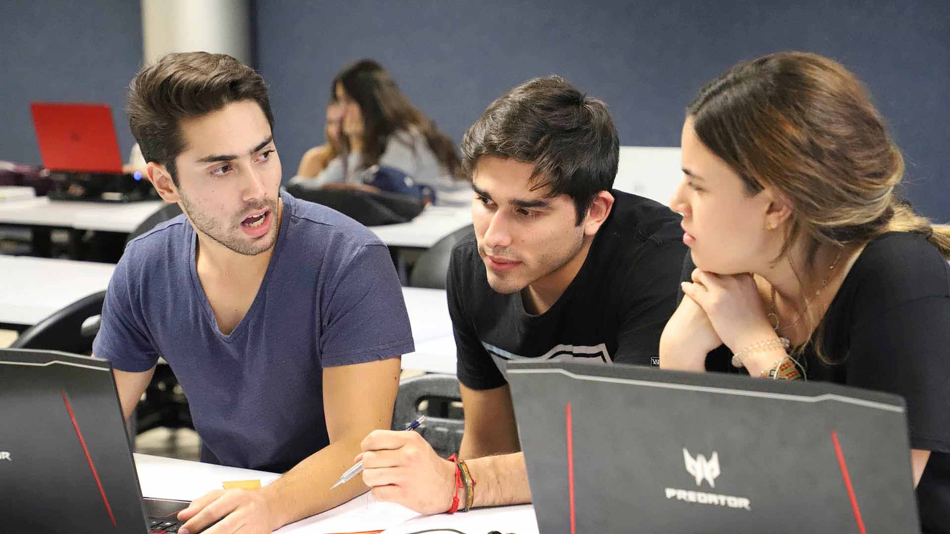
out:
<path id="1" fill-rule="evenodd" d="M 693 282 L 683 282 L 682 287 L 683 293 L 703 309 L 712 329 L 732 353 L 775 337 L 750 274 L 716 275 L 696 269 Z"/>

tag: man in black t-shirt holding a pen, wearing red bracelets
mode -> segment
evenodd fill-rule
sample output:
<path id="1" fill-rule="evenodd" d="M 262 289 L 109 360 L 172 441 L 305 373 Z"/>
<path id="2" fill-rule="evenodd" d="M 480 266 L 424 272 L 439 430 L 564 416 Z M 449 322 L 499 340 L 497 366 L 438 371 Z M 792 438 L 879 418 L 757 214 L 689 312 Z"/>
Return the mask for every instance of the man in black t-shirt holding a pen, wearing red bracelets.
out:
<path id="1" fill-rule="evenodd" d="M 557 76 L 511 89 L 469 128 L 475 233 L 452 251 L 447 293 L 466 417 L 459 456 L 477 485 L 466 503 L 456 464 L 416 432 L 377 430 L 361 456 L 378 500 L 422 513 L 531 500 L 507 360 L 658 366 L 687 250 L 669 208 L 611 190 L 618 145 L 606 106 Z"/>

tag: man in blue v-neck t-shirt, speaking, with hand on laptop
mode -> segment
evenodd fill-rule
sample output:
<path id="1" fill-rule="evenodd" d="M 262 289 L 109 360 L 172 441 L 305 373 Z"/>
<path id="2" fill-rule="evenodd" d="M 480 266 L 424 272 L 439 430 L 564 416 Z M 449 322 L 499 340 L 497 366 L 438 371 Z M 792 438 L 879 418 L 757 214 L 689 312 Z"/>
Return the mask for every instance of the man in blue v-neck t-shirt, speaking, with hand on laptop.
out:
<path id="1" fill-rule="evenodd" d="M 389 429 L 413 350 L 386 246 L 333 210 L 279 192 L 267 87 L 222 54 L 170 54 L 132 81 L 147 176 L 184 215 L 134 239 L 109 283 L 94 353 L 126 417 L 158 358 L 188 396 L 201 459 L 285 472 L 209 493 L 182 533 L 270 532 L 366 491 L 331 491 L 360 440 Z"/>

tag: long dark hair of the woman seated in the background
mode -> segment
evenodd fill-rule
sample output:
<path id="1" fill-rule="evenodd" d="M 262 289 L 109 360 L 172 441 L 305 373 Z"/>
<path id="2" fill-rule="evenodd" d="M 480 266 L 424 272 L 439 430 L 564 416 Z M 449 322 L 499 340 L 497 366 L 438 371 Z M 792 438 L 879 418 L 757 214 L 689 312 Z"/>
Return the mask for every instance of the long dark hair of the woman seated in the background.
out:
<path id="1" fill-rule="evenodd" d="M 364 167 L 379 162 L 394 133 L 415 129 L 450 176 L 465 177 L 455 143 L 409 102 L 390 73 L 378 63 L 371 59 L 352 63 L 333 78 L 331 94 L 335 94 L 337 84 L 343 86 L 363 114 Z"/>

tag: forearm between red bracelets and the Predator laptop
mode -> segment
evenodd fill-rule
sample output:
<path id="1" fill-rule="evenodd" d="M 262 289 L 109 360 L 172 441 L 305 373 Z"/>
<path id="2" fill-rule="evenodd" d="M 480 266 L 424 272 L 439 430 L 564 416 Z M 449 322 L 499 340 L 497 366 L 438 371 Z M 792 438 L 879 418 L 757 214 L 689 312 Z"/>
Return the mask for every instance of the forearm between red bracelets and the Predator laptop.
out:
<path id="1" fill-rule="evenodd" d="M 477 486 L 473 506 L 522 505 L 531 502 L 524 453 L 466 460 Z"/>

